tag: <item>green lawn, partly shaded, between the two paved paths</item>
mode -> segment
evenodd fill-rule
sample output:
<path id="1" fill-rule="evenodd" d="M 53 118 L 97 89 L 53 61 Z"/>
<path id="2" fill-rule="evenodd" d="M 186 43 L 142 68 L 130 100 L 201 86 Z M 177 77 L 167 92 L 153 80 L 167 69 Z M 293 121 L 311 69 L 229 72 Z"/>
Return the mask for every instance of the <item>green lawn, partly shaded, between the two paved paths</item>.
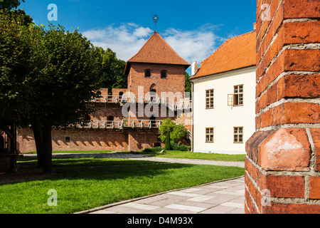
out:
<path id="1" fill-rule="evenodd" d="M 36 160 L 20 158 L 18 165 L 35 167 Z M 244 175 L 240 167 L 188 165 L 137 160 L 54 159 L 53 175 L 38 180 L 0 185 L 1 214 L 68 214 Z M 58 193 L 58 206 L 47 204 L 48 190 Z"/>

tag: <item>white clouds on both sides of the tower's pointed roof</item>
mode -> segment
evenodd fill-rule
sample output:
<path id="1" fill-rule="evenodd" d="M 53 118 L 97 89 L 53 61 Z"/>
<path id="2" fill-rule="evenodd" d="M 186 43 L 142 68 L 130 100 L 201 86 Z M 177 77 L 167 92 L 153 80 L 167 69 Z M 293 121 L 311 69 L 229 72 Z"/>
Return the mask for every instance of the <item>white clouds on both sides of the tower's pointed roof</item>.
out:
<path id="1" fill-rule="evenodd" d="M 220 37 L 214 31 L 217 26 L 206 24 L 193 31 L 181 31 L 169 28 L 160 34 L 169 45 L 188 63 L 201 61 L 210 56 Z M 92 29 L 83 32 L 95 46 L 111 48 L 117 57 L 127 61 L 134 56 L 146 43 L 153 31 L 151 28 L 138 26 L 134 23 L 110 25 L 103 29 Z"/>

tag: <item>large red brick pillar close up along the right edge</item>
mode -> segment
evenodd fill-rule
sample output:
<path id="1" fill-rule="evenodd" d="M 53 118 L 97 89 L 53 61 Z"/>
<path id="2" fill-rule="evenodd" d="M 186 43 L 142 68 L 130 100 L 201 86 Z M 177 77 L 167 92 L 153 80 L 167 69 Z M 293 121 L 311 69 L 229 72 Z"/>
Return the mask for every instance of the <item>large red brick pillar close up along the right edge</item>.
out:
<path id="1" fill-rule="evenodd" d="M 257 0 L 246 213 L 320 213 L 319 18 L 318 0 Z"/>

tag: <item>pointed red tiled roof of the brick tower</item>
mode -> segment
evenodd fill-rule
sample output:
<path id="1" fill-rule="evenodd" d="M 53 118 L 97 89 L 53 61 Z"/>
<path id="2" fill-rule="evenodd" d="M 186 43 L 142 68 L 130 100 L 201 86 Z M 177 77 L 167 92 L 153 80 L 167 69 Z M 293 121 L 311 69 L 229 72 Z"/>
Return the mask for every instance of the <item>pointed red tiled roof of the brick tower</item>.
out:
<path id="1" fill-rule="evenodd" d="M 138 53 L 127 61 L 124 73 L 129 71 L 130 63 L 174 64 L 183 65 L 186 66 L 186 68 L 190 66 L 156 31 L 149 40 L 144 43 L 144 46 L 142 46 Z"/>

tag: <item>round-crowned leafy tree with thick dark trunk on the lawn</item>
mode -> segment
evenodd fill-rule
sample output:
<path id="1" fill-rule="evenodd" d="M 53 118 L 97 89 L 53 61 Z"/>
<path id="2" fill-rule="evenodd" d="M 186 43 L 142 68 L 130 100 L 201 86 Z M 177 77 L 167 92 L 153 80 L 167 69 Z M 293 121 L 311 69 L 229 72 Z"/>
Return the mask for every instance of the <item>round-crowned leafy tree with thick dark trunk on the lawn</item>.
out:
<path id="1" fill-rule="evenodd" d="M 31 33 L 38 35 L 33 55 L 41 71 L 30 86 L 28 119 L 38 164 L 43 172 L 52 172 L 52 128 L 80 123 L 94 111 L 90 100 L 100 95 L 101 87 L 99 49 L 63 26 L 49 26 L 48 31 L 34 26 Z"/>

